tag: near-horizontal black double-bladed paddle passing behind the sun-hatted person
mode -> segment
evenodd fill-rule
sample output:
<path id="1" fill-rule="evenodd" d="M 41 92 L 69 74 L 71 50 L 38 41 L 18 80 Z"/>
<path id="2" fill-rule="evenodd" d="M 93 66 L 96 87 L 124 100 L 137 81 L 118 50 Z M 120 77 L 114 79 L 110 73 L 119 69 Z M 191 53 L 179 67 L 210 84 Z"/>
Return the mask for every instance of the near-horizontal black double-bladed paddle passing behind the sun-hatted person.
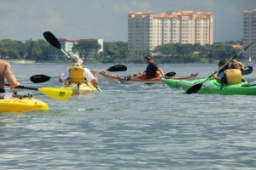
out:
<path id="1" fill-rule="evenodd" d="M 125 65 L 113 65 L 105 71 L 126 71 L 126 70 L 127 70 L 127 67 Z M 56 78 L 56 77 L 49 77 L 46 75 L 34 75 L 30 77 L 30 81 L 33 83 L 42 83 L 42 82 L 48 82 L 49 79 L 51 78 Z"/>

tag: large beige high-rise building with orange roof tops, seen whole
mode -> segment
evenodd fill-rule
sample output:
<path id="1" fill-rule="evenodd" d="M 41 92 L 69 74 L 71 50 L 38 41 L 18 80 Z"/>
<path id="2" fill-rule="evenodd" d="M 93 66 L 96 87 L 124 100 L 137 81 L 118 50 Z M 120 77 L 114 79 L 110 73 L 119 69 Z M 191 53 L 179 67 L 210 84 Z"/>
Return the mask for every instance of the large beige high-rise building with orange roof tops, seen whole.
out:
<path id="1" fill-rule="evenodd" d="M 194 11 L 128 13 L 129 56 L 148 54 L 166 43 L 213 43 L 213 14 Z"/>

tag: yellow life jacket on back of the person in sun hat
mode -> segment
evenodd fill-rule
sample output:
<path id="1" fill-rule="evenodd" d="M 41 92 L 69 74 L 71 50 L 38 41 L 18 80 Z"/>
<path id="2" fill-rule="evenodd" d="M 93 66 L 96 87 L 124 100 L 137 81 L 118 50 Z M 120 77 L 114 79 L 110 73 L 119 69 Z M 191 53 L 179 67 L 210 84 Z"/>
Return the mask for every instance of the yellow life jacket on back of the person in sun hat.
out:
<path id="1" fill-rule="evenodd" d="M 81 66 L 71 66 L 68 71 L 69 82 L 84 82 L 84 69 Z"/>

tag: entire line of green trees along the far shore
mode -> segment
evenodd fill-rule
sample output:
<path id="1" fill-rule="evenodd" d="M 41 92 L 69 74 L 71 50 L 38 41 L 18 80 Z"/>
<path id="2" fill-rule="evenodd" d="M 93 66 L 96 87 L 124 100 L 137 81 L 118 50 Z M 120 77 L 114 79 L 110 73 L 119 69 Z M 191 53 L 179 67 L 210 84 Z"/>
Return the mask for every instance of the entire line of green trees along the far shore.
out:
<path id="1" fill-rule="evenodd" d="M 195 44 L 168 43 L 154 48 L 153 51 L 145 49 L 143 54 L 157 54 L 155 59 L 161 63 L 167 62 L 215 62 L 235 56 L 240 49 L 232 48 L 232 44 L 241 42 L 215 42 L 212 45 L 202 46 Z M 103 52 L 97 54 L 102 48 L 96 41 L 84 41 L 74 45 L 73 51 L 82 57 L 94 54 L 91 62 L 132 62 L 144 63 L 144 55 L 128 57 L 127 42 L 103 42 Z M 0 58 L 2 59 L 32 59 L 32 60 L 66 60 L 61 50 L 52 47 L 44 39 L 38 41 L 27 40 L 20 42 L 3 39 L 0 41 Z"/>

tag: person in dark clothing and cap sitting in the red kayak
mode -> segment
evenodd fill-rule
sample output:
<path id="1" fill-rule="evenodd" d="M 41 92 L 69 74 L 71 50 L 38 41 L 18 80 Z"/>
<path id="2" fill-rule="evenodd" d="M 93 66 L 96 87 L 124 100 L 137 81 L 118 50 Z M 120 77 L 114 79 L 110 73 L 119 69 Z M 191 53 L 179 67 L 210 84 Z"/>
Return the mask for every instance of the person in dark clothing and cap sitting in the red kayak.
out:
<path id="1" fill-rule="evenodd" d="M 146 71 L 144 71 L 143 76 L 145 78 L 155 78 L 155 77 L 165 77 L 164 72 L 158 67 L 156 64 L 154 64 L 154 56 L 152 54 L 148 54 L 145 56 L 146 62 L 148 63 L 148 66 L 146 68 Z"/>

